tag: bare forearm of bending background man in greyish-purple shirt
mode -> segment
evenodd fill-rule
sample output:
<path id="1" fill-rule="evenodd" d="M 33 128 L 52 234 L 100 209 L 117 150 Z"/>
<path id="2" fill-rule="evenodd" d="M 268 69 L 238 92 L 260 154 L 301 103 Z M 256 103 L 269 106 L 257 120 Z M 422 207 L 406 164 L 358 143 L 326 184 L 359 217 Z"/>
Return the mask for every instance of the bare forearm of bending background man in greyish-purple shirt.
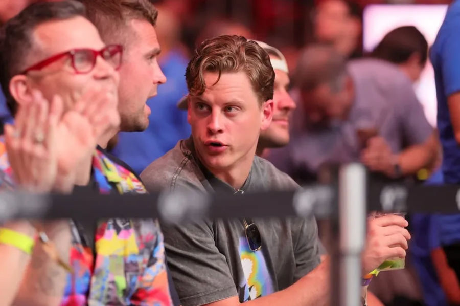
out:
<path id="1" fill-rule="evenodd" d="M 417 173 L 422 168 L 433 171 L 440 154 L 438 138 L 433 134 L 420 145 L 413 145 L 398 155 L 398 162 L 404 175 Z"/>

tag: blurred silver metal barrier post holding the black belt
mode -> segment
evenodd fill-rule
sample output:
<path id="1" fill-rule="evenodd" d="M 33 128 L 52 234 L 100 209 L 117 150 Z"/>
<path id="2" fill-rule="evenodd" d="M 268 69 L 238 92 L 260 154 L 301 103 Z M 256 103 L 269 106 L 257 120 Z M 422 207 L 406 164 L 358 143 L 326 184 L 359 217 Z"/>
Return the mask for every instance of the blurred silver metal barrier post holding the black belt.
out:
<path id="1" fill-rule="evenodd" d="M 333 265 L 332 305 L 361 304 L 361 252 L 366 225 L 366 171 L 358 163 L 339 171 L 339 246 Z"/>

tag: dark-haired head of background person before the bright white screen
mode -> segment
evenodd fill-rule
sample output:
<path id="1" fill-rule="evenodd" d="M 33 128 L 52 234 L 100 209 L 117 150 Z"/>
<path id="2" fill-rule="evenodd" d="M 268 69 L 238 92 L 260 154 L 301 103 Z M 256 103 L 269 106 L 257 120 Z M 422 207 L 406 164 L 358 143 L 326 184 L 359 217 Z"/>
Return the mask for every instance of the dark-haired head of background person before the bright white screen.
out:
<path id="1" fill-rule="evenodd" d="M 416 82 L 428 59 L 428 42 L 416 27 L 399 27 L 383 37 L 371 56 L 398 65 L 412 82 Z"/>

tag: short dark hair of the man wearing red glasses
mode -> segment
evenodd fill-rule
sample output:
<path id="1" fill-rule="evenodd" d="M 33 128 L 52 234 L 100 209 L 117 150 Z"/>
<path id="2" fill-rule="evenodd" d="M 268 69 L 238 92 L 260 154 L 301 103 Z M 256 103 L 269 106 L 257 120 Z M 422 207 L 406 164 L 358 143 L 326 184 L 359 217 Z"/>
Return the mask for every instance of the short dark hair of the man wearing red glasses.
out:
<path id="1" fill-rule="evenodd" d="M 75 0 L 38 2 L 28 6 L 7 21 L 0 33 L 0 84 L 7 98 L 7 105 L 14 115 L 17 103 L 11 96 L 9 83 L 28 64 L 29 52 L 33 50 L 33 30 L 50 20 L 63 20 L 76 16 L 86 17 L 85 7 Z"/>

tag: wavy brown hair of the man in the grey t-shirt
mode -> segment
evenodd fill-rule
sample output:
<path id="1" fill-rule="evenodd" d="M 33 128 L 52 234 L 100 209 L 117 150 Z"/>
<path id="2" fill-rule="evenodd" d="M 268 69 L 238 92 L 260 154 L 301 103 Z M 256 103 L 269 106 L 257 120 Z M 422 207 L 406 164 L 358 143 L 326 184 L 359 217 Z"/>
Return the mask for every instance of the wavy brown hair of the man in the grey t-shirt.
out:
<path id="1" fill-rule="evenodd" d="M 217 72 L 220 78 L 222 73 L 240 71 L 246 73 L 260 103 L 273 99 L 275 74 L 268 53 L 257 42 L 237 35 L 201 43 L 187 66 L 187 87 L 192 95 L 201 95 L 206 90 L 205 72 Z"/>

